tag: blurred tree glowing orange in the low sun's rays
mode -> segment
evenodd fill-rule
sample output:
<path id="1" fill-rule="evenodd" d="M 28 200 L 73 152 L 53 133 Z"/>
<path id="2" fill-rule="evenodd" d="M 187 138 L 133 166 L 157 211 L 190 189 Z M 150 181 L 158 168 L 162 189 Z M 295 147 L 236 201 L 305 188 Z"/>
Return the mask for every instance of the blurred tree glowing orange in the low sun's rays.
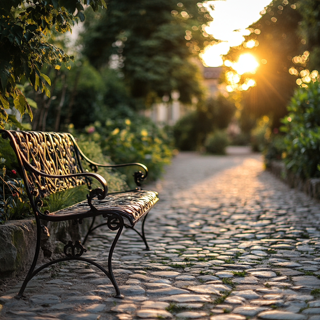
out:
<path id="1" fill-rule="evenodd" d="M 243 108 L 242 117 L 246 118 L 241 119 L 244 131 L 250 131 L 251 125 L 255 124 L 250 119 L 263 115 L 271 117 L 272 126 L 278 128 L 279 119 L 287 113 L 286 105 L 296 87 L 296 77 L 288 71 L 294 66 L 292 58 L 299 52 L 303 40 L 297 35 L 301 20 L 297 6 L 287 0 L 271 2 L 261 12 L 261 19 L 250 26 L 252 33 L 246 36 L 245 42 L 232 48 L 225 57 L 237 61 L 241 54 L 251 53 L 260 64 L 254 75 L 244 73 L 239 82 L 242 84 L 245 78 L 254 77 L 256 86 L 247 91 L 239 86 L 240 90 L 234 96 L 238 108 Z M 246 45 L 249 41 L 254 41 L 251 49 Z M 231 67 L 227 72 L 230 70 Z"/>

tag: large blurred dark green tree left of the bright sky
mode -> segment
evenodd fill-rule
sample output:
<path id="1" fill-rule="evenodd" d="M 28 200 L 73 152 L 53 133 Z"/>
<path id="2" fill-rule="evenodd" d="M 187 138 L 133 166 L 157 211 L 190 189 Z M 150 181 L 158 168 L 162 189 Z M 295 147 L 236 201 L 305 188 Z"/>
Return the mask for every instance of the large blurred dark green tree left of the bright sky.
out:
<path id="1" fill-rule="evenodd" d="M 203 31 L 212 18 L 201 3 L 111 0 L 108 11 L 86 14 L 83 53 L 96 68 L 118 69 L 136 104 L 151 105 L 172 90 L 186 103 L 202 96 L 191 58 L 214 40 Z"/>

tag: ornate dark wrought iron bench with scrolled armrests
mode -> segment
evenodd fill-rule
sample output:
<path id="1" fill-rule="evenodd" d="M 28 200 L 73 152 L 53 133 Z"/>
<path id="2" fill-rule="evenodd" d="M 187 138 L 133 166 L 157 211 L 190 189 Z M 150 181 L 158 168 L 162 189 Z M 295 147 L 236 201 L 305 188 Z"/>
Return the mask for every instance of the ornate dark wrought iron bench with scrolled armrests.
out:
<path id="1" fill-rule="evenodd" d="M 116 290 L 115 297 L 122 299 L 124 296 L 120 293 L 112 272 L 112 254 L 123 228 L 133 229 L 139 220 L 142 220 L 141 233 L 133 230 L 140 235 L 146 245 L 146 250 L 149 250 L 144 234 L 144 222 L 149 210 L 158 198 L 156 192 L 145 191 L 140 188 L 140 182 L 146 179 L 148 175 L 147 167 L 140 163 L 114 165 L 95 163 L 84 155 L 70 133 L 10 130 L 0 130 L 0 132 L 2 138 L 10 139 L 10 144 L 17 156 L 20 173 L 34 211 L 37 226 L 35 256 L 16 298 L 20 299 L 28 281 L 44 268 L 57 262 L 80 260 L 90 263 L 104 272 Z M 81 160 L 87 161 L 95 172 L 97 172 L 98 166 L 115 168 L 131 165 L 142 167 L 144 172 L 134 173 L 136 189 L 108 194 L 107 181 L 98 173 L 85 171 Z M 91 189 L 92 179 L 99 181 L 102 188 Z M 56 212 L 41 211 L 43 205 L 41 198 L 82 184 L 87 184 L 90 190 L 87 200 Z M 99 215 L 107 218 L 107 222 L 94 226 L 95 217 Z M 92 223 L 84 242 L 94 229 L 102 225 L 107 225 L 111 230 L 118 230 L 108 255 L 108 271 L 95 261 L 81 257 L 87 250 L 80 243 L 80 239 L 75 244 L 69 241 L 65 245 L 63 251 L 66 257 L 52 260 L 35 270 L 40 250 L 41 232 L 48 232 L 46 227 L 41 225 L 40 219 L 47 221 L 73 220 L 76 224 L 82 223 L 84 218 L 89 217 L 92 217 Z M 124 219 L 129 221 L 129 224 L 124 223 Z"/>

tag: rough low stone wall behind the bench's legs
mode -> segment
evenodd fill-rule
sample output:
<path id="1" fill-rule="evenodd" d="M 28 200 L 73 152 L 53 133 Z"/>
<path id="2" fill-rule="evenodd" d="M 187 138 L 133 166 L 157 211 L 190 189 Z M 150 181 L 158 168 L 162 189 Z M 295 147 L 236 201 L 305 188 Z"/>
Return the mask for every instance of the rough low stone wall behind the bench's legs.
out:
<path id="1" fill-rule="evenodd" d="M 97 219 L 99 221 L 99 219 Z M 41 233 L 41 250 L 38 261 L 50 259 L 54 253 L 62 253 L 69 240 L 83 239 L 92 218 L 82 224 L 72 221 L 41 221 L 47 226 L 50 236 Z M 36 220 L 12 220 L 0 225 L 0 278 L 14 277 L 28 271 L 36 249 Z"/>

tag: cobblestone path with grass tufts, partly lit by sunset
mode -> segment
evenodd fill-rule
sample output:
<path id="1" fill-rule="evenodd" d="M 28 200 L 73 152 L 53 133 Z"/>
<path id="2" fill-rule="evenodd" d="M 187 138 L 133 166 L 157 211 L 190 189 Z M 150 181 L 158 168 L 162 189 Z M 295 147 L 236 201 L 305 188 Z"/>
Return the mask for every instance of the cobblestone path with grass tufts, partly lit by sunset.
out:
<path id="1" fill-rule="evenodd" d="M 180 153 L 157 182 L 152 251 L 124 231 L 114 271 L 67 263 L 0 297 L 1 319 L 320 319 L 320 205 L 263 171 L 257 154 Z M 106 265 L 113 234 L 85 254 Z M 0 305 L 1 306 L 1 305 Z"/>

